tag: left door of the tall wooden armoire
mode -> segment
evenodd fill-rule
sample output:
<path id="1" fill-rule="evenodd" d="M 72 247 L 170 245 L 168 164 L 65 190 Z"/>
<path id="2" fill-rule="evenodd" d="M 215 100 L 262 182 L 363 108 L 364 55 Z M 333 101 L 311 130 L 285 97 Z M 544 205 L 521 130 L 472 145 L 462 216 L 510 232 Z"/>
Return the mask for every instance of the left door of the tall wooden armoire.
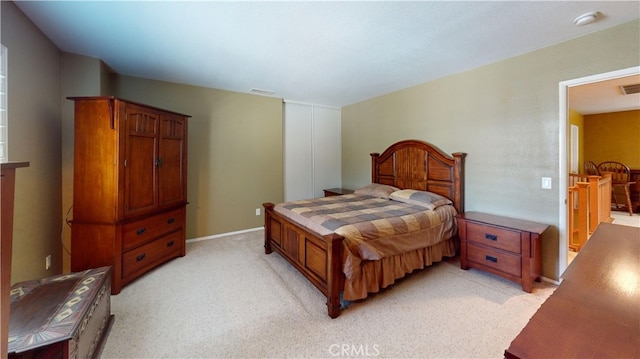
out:
<path id="1" fill-rule="evenodd" d="M 124 215 L 158 207 L 156 157 L 160 116 L 143 107 L 127 104 L 124 162 Z"/>

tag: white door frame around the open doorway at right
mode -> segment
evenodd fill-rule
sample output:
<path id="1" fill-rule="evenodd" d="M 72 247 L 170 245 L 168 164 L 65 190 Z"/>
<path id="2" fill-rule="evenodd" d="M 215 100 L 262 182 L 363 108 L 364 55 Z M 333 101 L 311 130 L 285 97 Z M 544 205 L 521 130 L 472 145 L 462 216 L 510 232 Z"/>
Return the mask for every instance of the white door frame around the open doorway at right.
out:
<path id="1" fill-rule="evenodd" d="M 640 74 L 640 66 L 629 67 L 622 70 L 610 71 L 601 74 L 591 75 L 580 77 L 577 79 L 561 81 L 559 83 L 559 93 L 560 93 L 560 168 L 558 174 L 558 210 L 559 210 L 559 220 L 558 220 L 558 232 L 559 232 L 559 250 L 558 250 L 558 281 L 560 281 L 560 276 L 567 269 L 568 265 L 568 256 L 569 256 L 569 242 L 568 242 L 568 228 L 567 223 L 569 221 L 569 212 L 567 209 L 567 197 L 568 197 L 568 188 L 569 188 L 569 163 L 568 159 L 568 151 L 569 151 L 569 141 L 567 137 L 567 131 L 569 130 L 569 88 L 581 85 L 587 85 L 594 82 L 601 82 L 607 80 L 613 80 L 620 77 L 626 77 L 631 75 Z"/>

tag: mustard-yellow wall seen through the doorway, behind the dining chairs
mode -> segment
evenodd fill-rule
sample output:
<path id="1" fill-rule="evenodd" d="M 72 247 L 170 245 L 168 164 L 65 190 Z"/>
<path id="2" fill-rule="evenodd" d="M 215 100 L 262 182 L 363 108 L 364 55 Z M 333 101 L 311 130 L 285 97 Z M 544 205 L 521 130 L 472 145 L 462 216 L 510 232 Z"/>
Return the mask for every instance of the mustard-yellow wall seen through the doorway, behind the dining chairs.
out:
<path id="1" fill-rule="evenodd" d="M 640 111 L 584 116 L 585 159 L 640 168 Z"/>

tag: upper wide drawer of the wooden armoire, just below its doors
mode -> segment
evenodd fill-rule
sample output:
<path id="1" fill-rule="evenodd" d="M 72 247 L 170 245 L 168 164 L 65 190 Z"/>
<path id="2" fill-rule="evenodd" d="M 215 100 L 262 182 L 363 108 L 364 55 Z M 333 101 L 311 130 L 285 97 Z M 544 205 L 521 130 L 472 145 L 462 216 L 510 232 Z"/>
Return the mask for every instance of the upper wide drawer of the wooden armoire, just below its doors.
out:
<path id="1" fill-rule="evenodd" d="M 164 234 L 184 228 L 182 209 L 160 213 L 123 226 L 122 250 L 126 251 Z"/>

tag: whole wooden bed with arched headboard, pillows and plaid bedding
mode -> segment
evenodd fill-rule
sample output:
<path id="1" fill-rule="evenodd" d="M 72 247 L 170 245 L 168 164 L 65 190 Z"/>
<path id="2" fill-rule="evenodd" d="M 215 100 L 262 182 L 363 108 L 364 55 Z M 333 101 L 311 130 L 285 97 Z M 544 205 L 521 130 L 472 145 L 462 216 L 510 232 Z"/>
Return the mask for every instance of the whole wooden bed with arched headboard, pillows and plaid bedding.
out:
<path id="1" fill-rule="evenodd" d="M 465 156 L 404 140 L 371 154 L 371 183 L 354 194 L 264 203 L 265 253 L 278 252 L 291 263 L 327 297 L 328 314 L 336 318 L 341 297 L 364 299 L 416 269 L 455 256 L 455 214 L 464 212 Z M 418 209 L 424 205 L 422 198 L 430 203 Z M 328 211 L 344 206 L 373 212 L 375 223 L 356 224 L 348 209 Z M 406 228 L 378 228 L 377 234 L 363 230 L 381 222 L 405 223 Z"/>

